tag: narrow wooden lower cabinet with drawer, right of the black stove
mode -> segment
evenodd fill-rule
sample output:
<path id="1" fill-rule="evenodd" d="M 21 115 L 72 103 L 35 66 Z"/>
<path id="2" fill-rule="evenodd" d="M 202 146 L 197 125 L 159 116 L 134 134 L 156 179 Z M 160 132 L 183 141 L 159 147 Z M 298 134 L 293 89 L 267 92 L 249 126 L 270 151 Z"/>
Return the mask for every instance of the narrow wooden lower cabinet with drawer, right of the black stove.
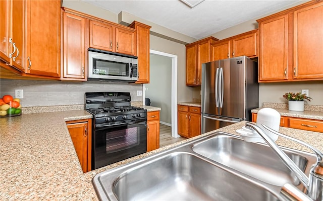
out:
<path id="1" fill-rule="evenodd" d="M 147 112 L 147 152 L 159 148 L 159 111 Z"/>

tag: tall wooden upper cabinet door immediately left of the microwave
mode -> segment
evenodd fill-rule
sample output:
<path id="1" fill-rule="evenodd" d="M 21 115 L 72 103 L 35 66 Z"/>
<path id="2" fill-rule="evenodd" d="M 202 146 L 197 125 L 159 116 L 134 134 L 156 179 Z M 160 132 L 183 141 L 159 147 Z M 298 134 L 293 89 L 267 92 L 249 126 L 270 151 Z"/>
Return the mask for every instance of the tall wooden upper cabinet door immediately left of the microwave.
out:
<path id="1" fill-rule="evenodd" d="M 85 19 L 63 12 L 63 66 L 61 79 L 87 79 L 85 69 Z"/>

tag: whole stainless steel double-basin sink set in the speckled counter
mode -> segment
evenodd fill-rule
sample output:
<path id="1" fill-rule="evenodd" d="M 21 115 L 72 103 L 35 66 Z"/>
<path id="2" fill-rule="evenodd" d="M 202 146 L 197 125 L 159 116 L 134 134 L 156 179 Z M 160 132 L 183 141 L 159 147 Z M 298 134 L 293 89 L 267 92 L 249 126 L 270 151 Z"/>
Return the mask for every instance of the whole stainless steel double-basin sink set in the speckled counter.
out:
<path id="1" fill-rule="evenodd" d="M 308 174 L 314 155 L 282 148 Z M 100 200 L 285 200 L 304 186 L 267 145 L 216 132 L 95 175 Z"/>

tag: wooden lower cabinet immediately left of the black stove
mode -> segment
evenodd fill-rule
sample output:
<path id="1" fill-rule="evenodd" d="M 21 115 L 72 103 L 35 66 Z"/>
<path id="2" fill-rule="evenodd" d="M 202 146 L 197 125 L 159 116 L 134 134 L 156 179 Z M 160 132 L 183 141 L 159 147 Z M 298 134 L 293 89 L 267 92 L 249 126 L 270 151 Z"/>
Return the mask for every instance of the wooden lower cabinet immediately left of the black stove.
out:
<path id="1" fill-rule="evenodd" d="M 91 170 L 92 120 L 67 121 L 71 139 L 83 172 Z"/>

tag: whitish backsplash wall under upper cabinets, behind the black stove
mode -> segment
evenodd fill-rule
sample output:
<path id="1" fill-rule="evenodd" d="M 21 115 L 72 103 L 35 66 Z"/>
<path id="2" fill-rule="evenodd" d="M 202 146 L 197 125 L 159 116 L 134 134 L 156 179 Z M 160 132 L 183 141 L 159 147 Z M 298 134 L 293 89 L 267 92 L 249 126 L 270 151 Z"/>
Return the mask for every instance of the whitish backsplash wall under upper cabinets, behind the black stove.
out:
<path id="1" fill-rule="evenodd" d="M 131 101 L 142 101 L 142 96 L 137 96 L 137 90 L 142 90 L 142 84 L 11 79 L 0 81 L 1 97 L 5 94 L 15 96 L 15 89 L 24 90 L 22 107 L 85 104 L 85 92 L 95 91 L 130 92 Z"/>

